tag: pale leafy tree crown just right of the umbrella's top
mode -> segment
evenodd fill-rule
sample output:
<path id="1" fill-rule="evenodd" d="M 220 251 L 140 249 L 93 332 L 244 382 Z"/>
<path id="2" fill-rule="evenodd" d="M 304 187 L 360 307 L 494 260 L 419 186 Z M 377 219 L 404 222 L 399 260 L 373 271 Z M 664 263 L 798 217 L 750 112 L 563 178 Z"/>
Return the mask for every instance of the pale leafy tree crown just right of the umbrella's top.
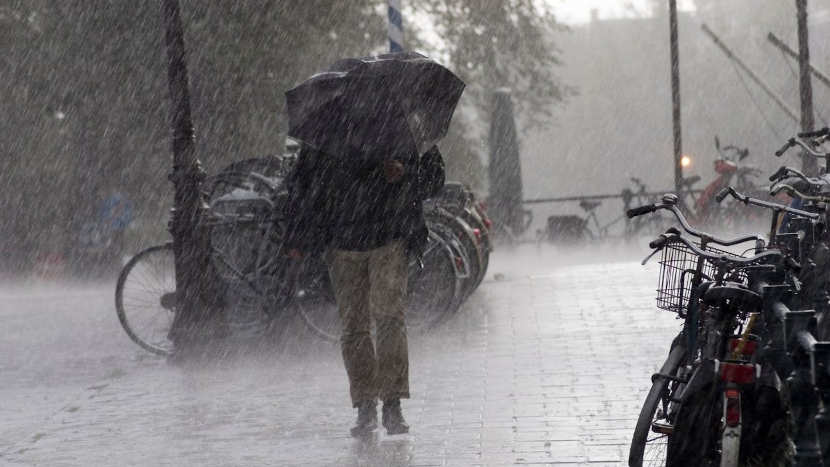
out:
<path id="1" fill-rule="evenodd" d="M 562 61 L 555 38 L 567 27 L 544 2 L 423 0 L 411 7 L 432 21 L 439 38 L 435 43 L 421 35 L 420 47 L 446 59 L 467 82 L 466 102 L 479 118 L 489 118 L 491 92 L 506 86 L 526 122 L 539 127 L 549 124 L 554 106 L 574 91 L 556 73 Z"/>

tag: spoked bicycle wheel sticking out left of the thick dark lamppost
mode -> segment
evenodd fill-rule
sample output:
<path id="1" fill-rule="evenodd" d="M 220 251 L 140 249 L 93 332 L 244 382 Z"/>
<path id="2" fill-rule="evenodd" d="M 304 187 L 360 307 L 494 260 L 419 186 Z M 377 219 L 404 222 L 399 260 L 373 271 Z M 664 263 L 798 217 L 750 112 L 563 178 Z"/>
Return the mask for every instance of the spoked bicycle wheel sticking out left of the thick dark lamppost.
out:
<path id="1" fill-rule="evenodd" d="M 158 355 L 173 352 L 170 327 L 177 307 L 173 245 L 147 248 L 121 270 L 115 285 L 115 312 L 127 336 Z"/>

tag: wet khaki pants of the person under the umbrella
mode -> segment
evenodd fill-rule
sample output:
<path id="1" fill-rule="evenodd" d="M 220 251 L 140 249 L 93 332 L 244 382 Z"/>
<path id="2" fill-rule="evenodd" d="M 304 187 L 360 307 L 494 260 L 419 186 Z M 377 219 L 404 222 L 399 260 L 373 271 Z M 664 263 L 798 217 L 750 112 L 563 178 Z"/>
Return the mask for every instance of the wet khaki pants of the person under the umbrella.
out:
<path id="1" fill-rule="evenodd" d="M 403 243 L 393 240 L 369 251 L 330 249 L 325 260 L 343 325 L 340 345 L 352 405 L 408 398 L 408 265 Z M 377 342 L 372 342 L 372 320 Z"/>

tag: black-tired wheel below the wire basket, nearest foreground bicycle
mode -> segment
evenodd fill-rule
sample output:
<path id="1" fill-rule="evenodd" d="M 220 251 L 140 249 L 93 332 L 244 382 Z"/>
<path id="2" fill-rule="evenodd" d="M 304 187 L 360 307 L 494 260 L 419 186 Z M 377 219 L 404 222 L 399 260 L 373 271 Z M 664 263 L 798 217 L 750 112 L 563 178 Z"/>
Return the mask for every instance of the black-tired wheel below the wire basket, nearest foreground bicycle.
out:
<path id="1" fill-rule="evenodd" d="M 676 345 L 669 352 L 669 356 L 660 368 L 660 374 L 676 376 L 677 370 L 681 367 L 683 361 L 686 359 L 686 349 L 682 345 Z M 652 389 L 648 391 L 646 401 L 640 410 L 640 416 L 637 418 L 637 425 L 634 428 L 634 435 L 632 436 L 631 448 L 628 451 L 628 466 L 642 467 L 643 465 L 665 465 L 666 447 L 668 445 L 668 437 L 657 437 L 648 439 L 649 434 L 652 433 L 652 425 L 654 425 L 656 418 L 663 414 L 659 414 L 658 410 L 662 410 L 667 406 L 666 401 L 668 397 L 676 398 L 679 396 L 681 387 L 675 386 L 677 393 L 669 390 L 671 381 L 666 378 L 657 378 L 652 383 Z M 668 390 L 668 392 L 666 392 Z M 662 440 L 666 442 L 662 442 Z M 648 459 L 646 459 L 648 457 Z M 644 464 L 644 461 L 648 461 Z"/>

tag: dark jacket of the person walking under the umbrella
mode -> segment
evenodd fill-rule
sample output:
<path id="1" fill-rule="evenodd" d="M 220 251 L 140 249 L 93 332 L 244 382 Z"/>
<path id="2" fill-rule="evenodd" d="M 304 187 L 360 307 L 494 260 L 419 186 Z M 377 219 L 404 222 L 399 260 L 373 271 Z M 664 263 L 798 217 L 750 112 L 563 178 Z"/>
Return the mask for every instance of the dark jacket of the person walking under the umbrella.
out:
<path id="1" fill-rule="evenodd" d="M 286 179 L 286 248 L 365 251 L 401 238 L 419 256 L 428 236 L 422 200 L 442 188 L 444 161 L 437 146 L 420 158 L 414 151 L 391 157 L 403 176 L 390 184 L 382 163 L 344 162 L 303 145 Z"/>

